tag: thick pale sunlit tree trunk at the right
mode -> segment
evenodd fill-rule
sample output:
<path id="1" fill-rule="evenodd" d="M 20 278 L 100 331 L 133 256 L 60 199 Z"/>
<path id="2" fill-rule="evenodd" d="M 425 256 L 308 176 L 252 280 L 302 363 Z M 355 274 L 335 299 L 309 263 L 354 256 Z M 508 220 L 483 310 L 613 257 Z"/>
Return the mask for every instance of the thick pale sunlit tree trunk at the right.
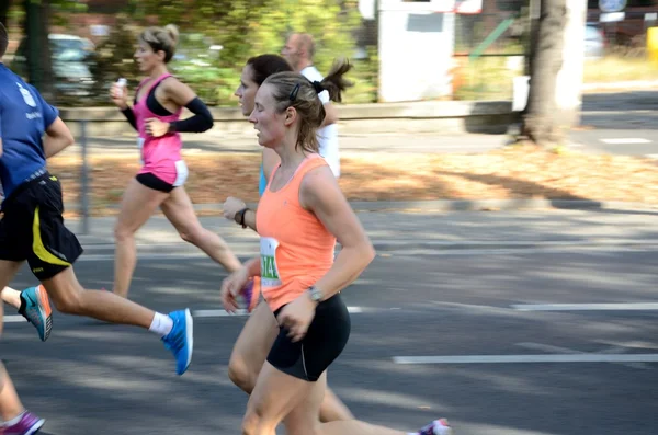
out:
<path id="1" fill-rule="evenodd" d="M 536 38 L 532 38 L 530 90 L 521 135 L 548 147 L 560 144 L 565 131 L 557 119 L 557 73 L 563 66 L 567 0 L 541 0 Z"/>

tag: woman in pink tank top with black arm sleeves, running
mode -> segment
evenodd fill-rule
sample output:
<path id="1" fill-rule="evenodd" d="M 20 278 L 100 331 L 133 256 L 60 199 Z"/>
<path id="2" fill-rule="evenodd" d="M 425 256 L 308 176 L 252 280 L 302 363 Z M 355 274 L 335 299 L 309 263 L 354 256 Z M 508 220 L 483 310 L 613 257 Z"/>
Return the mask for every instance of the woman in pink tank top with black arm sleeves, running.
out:
<path id="1" fill-rule="evenodd" d="M 213 116 L 186 84 L 167 70 L 178 39 L 178 28 L 149 27 L 138 38 L 135 59 L 147 77 L 135 92 L 133 107 L 125 90 L 114 85 L 111 96 L 137 130 L 141 169 L 126 187 L 115 234 L 114 291 L 126 297 L 136 264 L 135 232 L 160 207 L 181 238 L 207 253 L 228 272 L 240 262 L 226 242 L 203 228 L 183 187 L 188 167 L 181 157 L 180 133 L 202 133 L 213 126 Z M 183 107 L 194 116 L 180 119 Z"/>

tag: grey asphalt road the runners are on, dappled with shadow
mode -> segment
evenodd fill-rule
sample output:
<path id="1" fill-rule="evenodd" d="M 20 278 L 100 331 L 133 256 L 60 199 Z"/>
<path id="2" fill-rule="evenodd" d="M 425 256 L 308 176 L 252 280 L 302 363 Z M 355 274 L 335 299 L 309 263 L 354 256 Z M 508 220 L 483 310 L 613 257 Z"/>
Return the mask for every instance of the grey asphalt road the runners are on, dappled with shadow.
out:
<path id="1" fill-rule="evenodd" d="M 343 291 L 352 336 L 330 385 L 360 419 L 404 431 L 441 415 L 460 435 L 656 433 L 658 364 L 644 360 L 658 354 L 658 312 L 646 305 L 658 302 L 657 261 L 650 249 L 614 247 L 384 252 Z M 81 262 L 77 273 L 110 286 L 112 263 Z M 131 296 L 161 311 L 218 310 L 222 277 L 206 259 L 143 256 Z M 14 282 L 31 283 L 26 270 Z M 621 305 L 589 305 L 603 302 Z M 578 306 L 527 306 L 536 304 Z M 31 325 L 7 323 L 1 355 L 25 405 L 47 419 L 45 434 L 236 434 L 247 397 L 226 365 L 245 321 L 196 317 L 183 377 L 150 333 L 63 314 L 45 344 Z M 599 353 L 640 360 L 606 363 Z M 409 356 L 434 359 L 396 364 Z M 442 359 L 457 356 L 473 364 Z"/>

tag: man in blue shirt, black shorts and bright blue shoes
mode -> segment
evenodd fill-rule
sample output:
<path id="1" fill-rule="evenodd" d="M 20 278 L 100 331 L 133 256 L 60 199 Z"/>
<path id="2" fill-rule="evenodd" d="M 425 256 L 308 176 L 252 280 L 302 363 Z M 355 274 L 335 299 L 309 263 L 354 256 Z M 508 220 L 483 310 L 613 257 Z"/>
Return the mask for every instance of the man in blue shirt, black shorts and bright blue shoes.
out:
<path id="1" fill-rule="evenodd" d="M 72 264 L 82 253 L 76 236 L 64 225 L 61 185 L 48 173 L 46 159 L 73 144 L 57 108 L 2 62 L 8 35 L 0 24 L 0 183 L 4 191 L 0 220 L 0 288 L 2 300 L 16 306 L 37 327 L 42 340 L 49 333 L 48 295 L 61 312 L 110 323 L 143 327 L 155 332 L 177 359 L 182 375 L 192 359 L 190 310 L 162 314 L 111 291 L 84 290 Z M 7 285 L 27 261 L 41 286 L 23 293 Z M 13 302 L 12 302 L 13 301 Z M 48 324 L 39 324 L 48 323 Z M 2 305 L 0 304 L 0 331 Z M 0 364 L 0 433 L 33 434 L 44 421 L 26 412 Z"/>

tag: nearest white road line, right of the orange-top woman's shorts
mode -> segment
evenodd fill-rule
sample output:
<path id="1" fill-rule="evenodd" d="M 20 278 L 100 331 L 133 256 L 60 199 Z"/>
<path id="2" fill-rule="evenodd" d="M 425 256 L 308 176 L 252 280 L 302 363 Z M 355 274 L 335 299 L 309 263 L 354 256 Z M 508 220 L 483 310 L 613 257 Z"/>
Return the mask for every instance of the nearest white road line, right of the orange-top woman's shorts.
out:
<path id="1" fill-rule="evenodd" d="M 395 364 L 658 363 L 658 354 L 395 356 Z"/>

